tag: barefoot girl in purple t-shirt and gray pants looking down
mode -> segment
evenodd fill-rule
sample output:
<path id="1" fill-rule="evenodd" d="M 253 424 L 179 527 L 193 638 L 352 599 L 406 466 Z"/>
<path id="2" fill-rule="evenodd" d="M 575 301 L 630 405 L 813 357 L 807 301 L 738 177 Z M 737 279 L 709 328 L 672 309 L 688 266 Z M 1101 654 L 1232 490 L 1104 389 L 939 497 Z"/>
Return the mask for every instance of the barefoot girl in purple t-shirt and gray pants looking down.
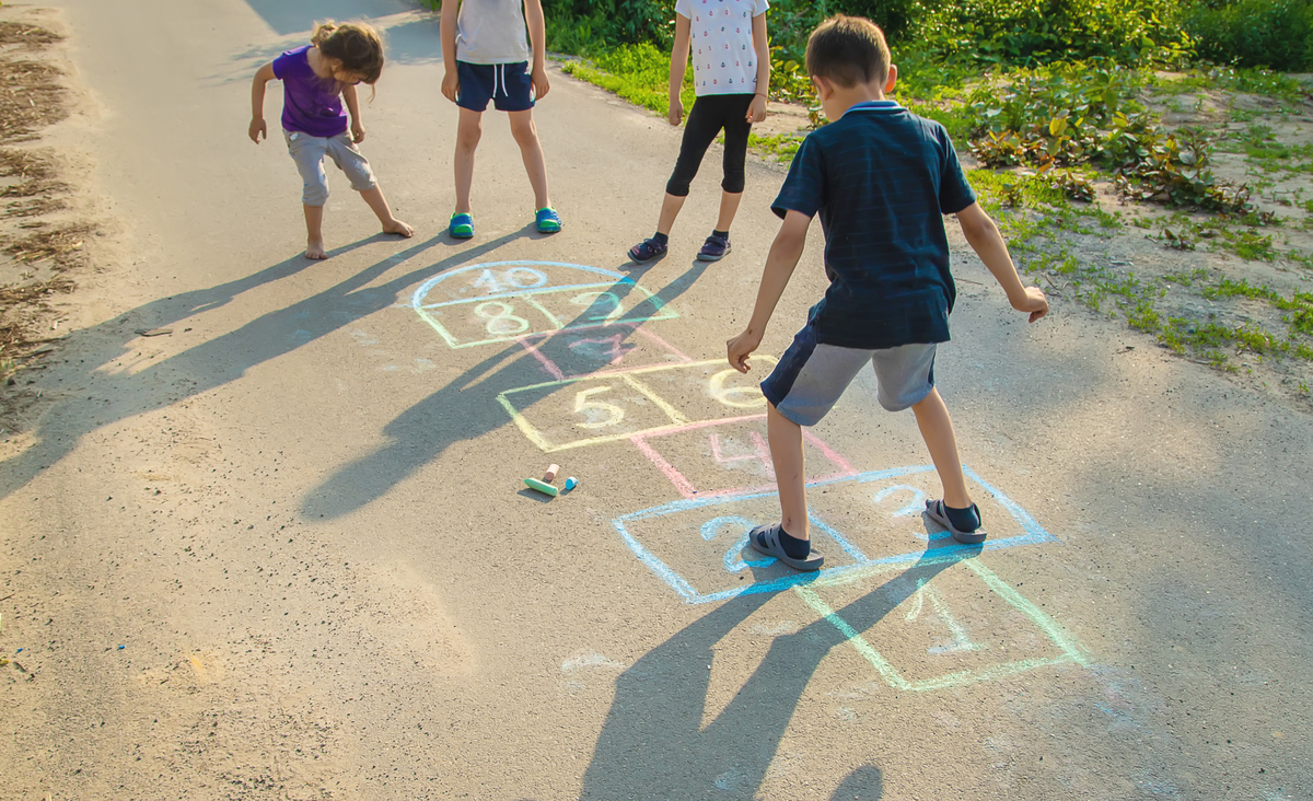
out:
<path id="1" fill-rule="evenodd" d="M 282 81 L 282 134 L 305 181 L 301 202 L 306 211 L 306 259 L 328 257 L 323 238 L 328 200 L 326 155 L 347 173 L 351 188 L 360 192 L 383 223 L 385 234 L 415 235 L 414 228 L 393 217 L 369 162 L 356 147 L 365 138 L 356 84 L 373 85 L 382 70 L 383 41 L 377 30 L 360 22 L 322 22 L 315 26 L 310 45 L 284 53 L 255 74 L 248 133 L 256 144 L 269 135 L 264 123 L 264 87 L 273 79 Z"/>

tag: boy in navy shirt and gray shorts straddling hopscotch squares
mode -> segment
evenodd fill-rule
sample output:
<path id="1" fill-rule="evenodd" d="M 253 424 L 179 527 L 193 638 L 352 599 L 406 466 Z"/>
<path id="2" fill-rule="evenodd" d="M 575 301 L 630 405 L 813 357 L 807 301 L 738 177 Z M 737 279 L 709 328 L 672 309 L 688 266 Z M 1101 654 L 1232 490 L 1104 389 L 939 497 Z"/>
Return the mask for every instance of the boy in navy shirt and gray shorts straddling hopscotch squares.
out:
<path id="1" fill-rule="evenodd" d="M 880 404 L 915 412 L 944 485 L 944 498 L 927 502 L 927 513 L 958 542 L 981 542 L 979 509 L 966 492 L 953 423 L 935 389 L 935 345 L 948 341 L 956 297 L 944 215 L 957 215 L 1012 309 L 1033 323 L 1049 303 L 1037 288 L 1022 285 L 944 127 L 885 98 L 898 71 L 889 63 L 884 32 L 869 20 L 839 14 L 811 33 L 806 60 L 831 122 L 802 142 L 771 206 L 784 223 L 752 319 L 729 340 L 730 364 L 741 373 L 750 369 L 748 355 L 762 344 L 815 214 L 830 288 L 762 382 L 783 517 L 752 529 L 748 542 L 797 570 L 819 570 L 823 557 L 811 550 L 807 525 L 801 427 L 818 423 L 868 361 Z"/>

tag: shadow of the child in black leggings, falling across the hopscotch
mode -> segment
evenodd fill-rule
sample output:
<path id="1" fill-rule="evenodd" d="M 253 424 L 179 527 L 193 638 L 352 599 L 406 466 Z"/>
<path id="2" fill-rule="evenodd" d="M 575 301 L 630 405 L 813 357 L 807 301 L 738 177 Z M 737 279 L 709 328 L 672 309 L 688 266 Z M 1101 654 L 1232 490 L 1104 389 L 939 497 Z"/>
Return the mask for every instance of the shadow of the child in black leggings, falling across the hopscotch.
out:
<path id="1" fill-rule="evenodd" d="M 684 274 L 630 307 L 625 316 L 642 319 L 655 315 L 687 292 L 705 271 L 706 263 L 695 261 Z M 603 369 L 611 364 L 611 353 L 614 349 L 634 348 L 633 337 L 638 324 L 607 326 L 604 331 L 617 337 L 607 353 L 571 348 L 571 340 L 578 336 L 578 330 L 570 332 L 570 327 L 604 318 L 611 311 L 605 303 L 611 301 L 603 298 L 609 294 L 624 302 L 643 272 L 630 271 L 626 278 L 599 293 L 591 306 L 583 309 L 561 332 L 549 336 L 538 348 L 561 362 L 569 362 L 572 373 Z M 328 477 L 306 496 L 301 507 L 302 513 L 314 519 L 340 517 L 377 500 L 415 470 L 441 456 L 453 443 L 471 440 L 509 424 L 511 419 L 496 401 L 499 394 L 551 379 L 541 362 L 521 344 L 512 343 L 499 349 L 398 415 L 383 428 L 387 444 L 344 465 Z M 537 394 L 524 393 L 519 403 L 534 403 L 551 391 L 553 387 L 544 387 Z"/>

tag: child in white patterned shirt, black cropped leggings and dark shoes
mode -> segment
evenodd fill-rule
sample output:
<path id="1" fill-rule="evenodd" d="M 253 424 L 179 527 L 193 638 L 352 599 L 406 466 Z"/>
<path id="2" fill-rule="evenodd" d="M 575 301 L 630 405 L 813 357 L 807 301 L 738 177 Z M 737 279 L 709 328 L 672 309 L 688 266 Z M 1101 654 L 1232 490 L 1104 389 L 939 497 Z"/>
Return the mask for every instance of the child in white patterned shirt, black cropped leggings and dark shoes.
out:
<path id="1" fill-rule="evenodd" d="M 767 0 L 678 0 L 675 47 L 670 54 L 671 125 L 679 125 L 684 104 L 679 97 L 688 58 L 693 56 L 697 100 L 688 113 L 675 171 L 666 184 L 656 232 L 629 248 L 634 261 L 663 256 L 670 230 L 688 197 L 688 185 L 716 135 L 725 130 L 725 177 L 721 213 L 697 257 L 717 261 L 730 252 L 730 223 L 743 197 L 747 135 L 754 122 L 765 119 L 771 87 L 771 50 L 765 37 Z"/>

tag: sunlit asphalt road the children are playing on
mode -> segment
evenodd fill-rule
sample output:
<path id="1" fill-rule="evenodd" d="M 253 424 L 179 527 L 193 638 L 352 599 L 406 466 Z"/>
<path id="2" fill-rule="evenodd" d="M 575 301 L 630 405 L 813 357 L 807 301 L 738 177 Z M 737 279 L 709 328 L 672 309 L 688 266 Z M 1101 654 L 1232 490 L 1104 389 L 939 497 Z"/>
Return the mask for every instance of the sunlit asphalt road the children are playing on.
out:
<path id="1" fill-rule="evenodd" d="M 807 440 L 830 562 L 798 584 L 741 545 L 777 513 L 752 379 L 823 289 L 819 226 L 751 379 L 723 361 L 777 167 L 723 261 L 693 260 L 713 152 L 670 256 L 628 265 L 679 131 L 553 70 L 565 230 L 533 232 L 490 113 L 456 243 L 431 14 L 53 5 L 108 236 L 0 462 L 0 797 L 1313 797 L 1308 414 L 1075 305 L 1027 326 L 955 235 L 935 373 L 991 537 L 927 527 L 867 376 Z M 332 173 L 310 263 L 246 127 L 324 16 L 389 34 L 362 148 L 418 234 Z M 579 487 L 524 488 L 549 462 Z"/>

